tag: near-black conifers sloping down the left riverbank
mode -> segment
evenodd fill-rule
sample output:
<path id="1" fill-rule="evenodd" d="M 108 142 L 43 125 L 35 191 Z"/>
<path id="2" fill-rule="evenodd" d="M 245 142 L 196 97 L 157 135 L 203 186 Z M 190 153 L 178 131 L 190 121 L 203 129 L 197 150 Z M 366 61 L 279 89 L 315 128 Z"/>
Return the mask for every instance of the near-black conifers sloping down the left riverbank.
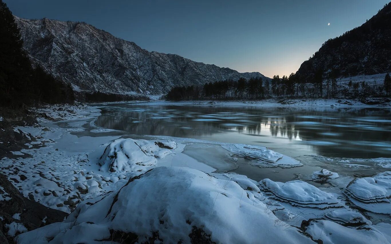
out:
<path id="1" fill-rule="evenodd" d="M 0 106 L 14 109 L 44 103 L 72 103 L 72 87 L 32 67 L 20 30 L 7 4 L 0 0 Z"/>

